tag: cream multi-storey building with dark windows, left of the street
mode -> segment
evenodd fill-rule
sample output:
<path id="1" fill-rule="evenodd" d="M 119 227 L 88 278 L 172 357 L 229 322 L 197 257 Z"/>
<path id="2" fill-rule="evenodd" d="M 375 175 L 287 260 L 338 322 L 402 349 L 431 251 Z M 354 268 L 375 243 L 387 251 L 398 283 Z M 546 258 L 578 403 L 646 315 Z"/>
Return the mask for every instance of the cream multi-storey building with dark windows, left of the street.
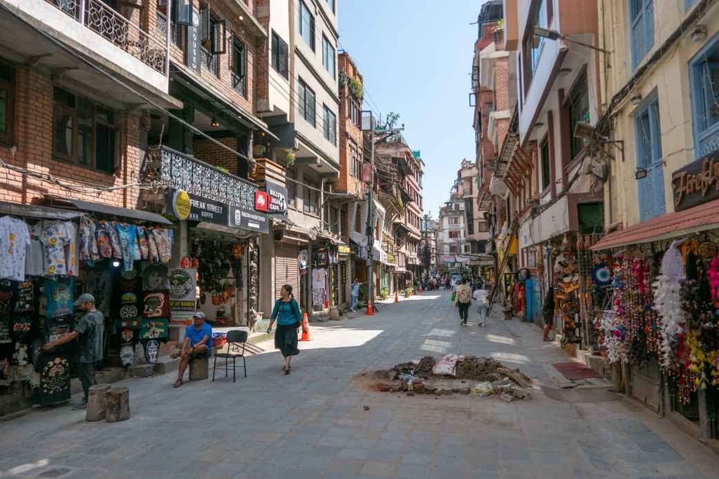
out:
<path id="1" fill-rule="evenodd" d="M 333 248 L 342 224 L 326 201 L 340 170 L 336 7 L 336 1 L 326 0 L 255 0 L 267 32 L 262 56 L 267 68 L 256 82 L 257 111 L 278 137 L 260 155 L 283 169 L 288 198 L 286 221 L 276 227 L 280 236 L 263 244 L 271 258 L 267 263 L 273 263 L 265 268 L 274 271 L 273 284 L 263 289 L 264 309 L 284 283 L 296 288 L 310 314 L 340 299 L 337 268 L 314 260 L 316 253 Z M 299 259 L 305 257 L 308 264 Z M 314 265 L 326 272 L 324 293 L 314 293 L 319 290 L 309 280 Z"/>

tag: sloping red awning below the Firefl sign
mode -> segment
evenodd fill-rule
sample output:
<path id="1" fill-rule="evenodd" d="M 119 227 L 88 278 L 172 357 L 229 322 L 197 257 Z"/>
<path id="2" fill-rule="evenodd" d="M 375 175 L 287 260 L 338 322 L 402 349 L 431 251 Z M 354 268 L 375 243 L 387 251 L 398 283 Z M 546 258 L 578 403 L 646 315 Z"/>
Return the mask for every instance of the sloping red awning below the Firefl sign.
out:
<path id="1" fill-rule="evenodd" d="M 684 211 L 662 214 L 603 237 L 592 250 L 608 250 L 613 247 L 638 245 L 683 237 L 687 234 L 719 228 L 719 199 L 694 206 Z"/>

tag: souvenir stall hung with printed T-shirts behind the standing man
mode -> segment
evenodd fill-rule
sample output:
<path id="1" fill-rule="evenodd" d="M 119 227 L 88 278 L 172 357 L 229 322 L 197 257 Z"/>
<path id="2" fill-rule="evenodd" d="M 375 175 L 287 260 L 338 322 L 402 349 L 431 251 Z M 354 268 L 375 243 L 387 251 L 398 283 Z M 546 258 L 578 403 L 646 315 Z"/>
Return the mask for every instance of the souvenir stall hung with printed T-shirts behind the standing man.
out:
<path id="1" fill-rule="evenodd" d="M 105 317 L 99 367 L 129 367 L 135 354 L 154 362 L 171 319 L 172 222 L 88 201 L 53 203 L 68 209 L 0 204 L 0 394 L 26 406 L 70 398 L 73 344 L 42 345 L 73 331 L 81 293 Z"/>

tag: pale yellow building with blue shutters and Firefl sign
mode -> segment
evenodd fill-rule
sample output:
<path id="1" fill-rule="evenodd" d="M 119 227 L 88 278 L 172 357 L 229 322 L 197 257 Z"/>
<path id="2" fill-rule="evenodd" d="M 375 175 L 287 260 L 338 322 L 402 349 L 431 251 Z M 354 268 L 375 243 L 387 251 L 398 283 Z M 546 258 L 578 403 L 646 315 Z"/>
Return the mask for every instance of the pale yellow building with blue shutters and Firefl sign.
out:
<path id="1" fill-rule="evenodd" d="M 647 255 L 678 239 L 691 251 L 692 242 L 702 242 L 698 232 L 715 231 L 719 211 L 710 186 L 719 159 L 719 2 L 598 4 L 598 44 L 606 52 L 599 55 L 597 76 L 606 98 L 596 130 L 585 136 L 603 153 L 600 172 L 608 170 L 599 180 L 607 234 L 592 249 Z M 689 265 L 687 259 L 691 278 Z M 682 337 L 694 334 L 690 326 L 682 330 Z M 686 377 L 681 371 L 661 373 L 656 356 L 646 365 L 625 366 L 628 394 L 661 414 L 691 418 L 697 437 L 718 436 L 707 426 L 717 410 L 711 386 L 697 388 L 686 403 L 667 401 Z"/>

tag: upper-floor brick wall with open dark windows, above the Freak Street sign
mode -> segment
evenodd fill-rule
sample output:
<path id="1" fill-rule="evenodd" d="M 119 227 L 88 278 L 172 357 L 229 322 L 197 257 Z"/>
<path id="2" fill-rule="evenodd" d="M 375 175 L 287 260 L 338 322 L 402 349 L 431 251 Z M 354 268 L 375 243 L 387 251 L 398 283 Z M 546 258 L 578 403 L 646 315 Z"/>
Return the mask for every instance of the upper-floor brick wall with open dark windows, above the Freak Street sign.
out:
<path id="1" fill-rule="evenodd" d="M 236 0 L 214 0 L 210 2 L 212 16 L 216 19 L 225 19 L 227 21 L 226 51 L 224 54 L 217 55 L 219 57 L 219 78 L 206 68 L 206 65 L 203 65 L 200 76 L 198 76 L 196 70 L 187 67 L 183 53 L 184 45 L 175 45 L 174 43 L 171 45 L 170 60 L 175 65 L 183 67 L 186 72 L 190 72 L 193 78 L 199 80 L 205 88 L 216 96 L 221 97 L 224 101 L 228 101 L 239 109 L 254 114 L 256 68 L 257 70 L 262 70 L 262 68 L 267 68 L 266 65 L 269 65 L 267 63 L 267 52 L 264 51 L 267 48 L 267 41 L 257 42 L 255 36 L 247 32 L 242 22 L 239 21 L 237 14 L 227 6 L 229 3 L 234 3 L 234 1 Z M 165 32 L 157 31 L 157 2 L 154 0 L 149 1 L 146 5 L 147 29 L 149 32 L 155 32 L 155 35 L 158 35 L 164 43 Z M 247 98 L 232 88 L 232 72 L 229 70 L 232 58 L 232 34 L 239 37 L 247 46 Z M 265 54 L 265 63 L 257 63 L 261 60 L 258 58 L 258 52 L 260 51 Z"/>

